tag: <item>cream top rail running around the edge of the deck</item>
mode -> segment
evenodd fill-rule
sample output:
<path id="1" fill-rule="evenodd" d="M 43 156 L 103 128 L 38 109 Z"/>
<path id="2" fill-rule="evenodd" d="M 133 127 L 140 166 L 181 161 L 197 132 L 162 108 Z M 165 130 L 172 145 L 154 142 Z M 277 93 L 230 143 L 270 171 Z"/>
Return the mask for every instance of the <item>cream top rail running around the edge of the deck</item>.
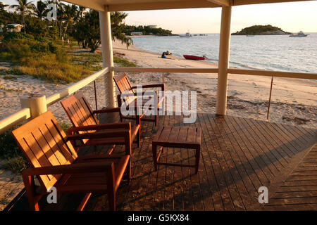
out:
<path id="1" fill-rule="evenodd" d="M 75 91 L 82 89 L 97 78 L 105 75 L 106 72 L 173 72 L 173 73 L 218 73 L 218 68 L 118 68 L 114 67 L 109 70 L 104 68 L 99 72 L 80 80 L 79 82 L 68 86 L 66 89 L 46 98 L 46 105 L 50 106 L 54 103 L 61 101 L 61 99 L 73 94 Z M 241 69 L 228 69 L 228 73 L 232 75 L 255 75 L 255 76 L 268 76 L 268 77 L 287 77 L 287 78 L 300 78 L 300 79 L 316 79 L 317 74 L 300 73 L 300 72 L 277 72 L 265 70 L 241 70 Z M 95 99 L 96 96 L 95 96 Z M 97 105 L 97 103 L 96 103 Z M 30 108 L 23 108 L 22 110 L 14 113 L 3 120 L 0 120 L 0 134 L 8 129 L 11 129 L 15 124 L 19 124 L 27 119 L 30 119 Z"/>

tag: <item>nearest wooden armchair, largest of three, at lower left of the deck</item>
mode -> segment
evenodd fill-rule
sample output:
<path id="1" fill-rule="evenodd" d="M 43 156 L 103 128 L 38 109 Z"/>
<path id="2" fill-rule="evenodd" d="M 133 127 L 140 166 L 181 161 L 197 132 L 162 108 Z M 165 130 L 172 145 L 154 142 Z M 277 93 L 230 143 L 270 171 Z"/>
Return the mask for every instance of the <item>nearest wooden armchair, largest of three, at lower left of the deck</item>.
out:
<path id="1" fill-rule="evenodd" d="M 120 129 L 129 134 L 129 129 Z M 107 193 L 116 210 L 116 191 L 125 177 L 130 182 L 130 155 L 78 156 L 68 139 L 86 139 L 85 134 L 66 136 L 51 111 L 12 131 L 31 167 L 23 171 L 23 182 L 31 210 L 54 186 L 57 193 L 86 193 L 77 210 L 83 210 L 92 193 Z M 94 136 L 94 134 L 90 134 Z M 95 134 L 94 139 L 102 139 Z M 40 186 L 35 186 L 37 176 Z"/>

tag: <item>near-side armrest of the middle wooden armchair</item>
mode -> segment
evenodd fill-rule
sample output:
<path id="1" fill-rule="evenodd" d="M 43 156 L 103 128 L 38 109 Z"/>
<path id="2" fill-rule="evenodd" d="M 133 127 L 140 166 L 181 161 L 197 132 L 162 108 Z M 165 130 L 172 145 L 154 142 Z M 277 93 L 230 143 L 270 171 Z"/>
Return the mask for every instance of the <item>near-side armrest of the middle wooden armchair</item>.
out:
<path id="1" fill-rule="evenodd" d="M 74 134 L 77 131 L 99 131 L 102 129 L 130 129 L 130 122 L 113 122 L 109 124 L 97 124 L 80 127 L 70 127 L 68 134 Z"/>

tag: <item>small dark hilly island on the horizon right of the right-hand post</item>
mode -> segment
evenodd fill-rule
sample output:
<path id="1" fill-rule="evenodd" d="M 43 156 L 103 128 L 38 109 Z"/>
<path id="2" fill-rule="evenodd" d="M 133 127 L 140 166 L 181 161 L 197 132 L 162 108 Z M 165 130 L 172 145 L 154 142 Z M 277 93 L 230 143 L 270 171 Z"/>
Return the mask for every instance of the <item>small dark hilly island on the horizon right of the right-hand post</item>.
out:
<path id="1" fill-rule="evenodd" d="M 243 28 L 240 31 L 232 33 L 232 35 L 277 35 L 277 34 L 291 34 L 280 29 L 280 27 L 273 27 L 272 25 L 254 25 Z"/>

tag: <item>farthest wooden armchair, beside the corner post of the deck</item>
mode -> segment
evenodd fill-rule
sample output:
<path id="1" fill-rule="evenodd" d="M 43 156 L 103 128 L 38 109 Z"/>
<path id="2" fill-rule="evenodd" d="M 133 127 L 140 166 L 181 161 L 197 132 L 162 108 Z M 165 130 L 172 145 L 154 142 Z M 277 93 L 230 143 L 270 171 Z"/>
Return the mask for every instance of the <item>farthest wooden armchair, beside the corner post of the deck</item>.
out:
<path id="1" fill-rule="evenodd" d="M 137 89 L 137 86 L 132 86 L 128 76 L 123 73 L 121 75 L 116 75 L 115 77 L 113 77 L 113 80 L 116 82 L 116 85 L 120 91 L 120 94 L 123 94 L 123 92 L 125 93 L 125 97 L 124 97 L 124 101 L 127 102 L 127 105 L 129 104 L 134 104 L 135 108 L 137 108 L 137 94 L 135 93 L 134 89 Z M 165 85 L 164 84 L 148 84 L 148 85 L 142 85 L 142 89 L 144 88 L 154 88 L 154 87 L 159 87 L 161 88 L 161 91 L 164 91 L 165 89 Z M 162 105 L 164 107 L 164 98 L 159 99 L 159 95 L 157 94 L 157 91 L 149 91 L 147 92 L 148 95 L 151 95 L 151 93 L 155 93 L 156 94 L 156 98 L 157 98 L 157 105 L 155 105 L 154 110 L 156 110 L 156 115 L 154 115 L 154 119 L 149 119 L 149 118 L 144 118 L 144 113 L 142 113 L 142 115 L 139 115 L 141 120 L 144 121 L 151 121 L 151 122 L 155 122 L 155 125 L 157 125 L 157 118 L 159 115 L 159 108 L 160 105 Z M 144 92 L 142 93 L 144 94 Z M 118 95 L 118 106 L 121 107 L 122 105 L 122 101 L 121 101 L 121 96 Z M 146 103 L 146 101 L 142 101 L 142 108 L 143 110 L 151 110 L 151 107 L 149 108 L 144 108 L 144 103 Z M 120 120 L 122 121 L 124 119 L 130 119 L 130 120 L 134 120 L 135 117 L 129 117 L 129 116 L 123 116 L 120 113 Z"/>

